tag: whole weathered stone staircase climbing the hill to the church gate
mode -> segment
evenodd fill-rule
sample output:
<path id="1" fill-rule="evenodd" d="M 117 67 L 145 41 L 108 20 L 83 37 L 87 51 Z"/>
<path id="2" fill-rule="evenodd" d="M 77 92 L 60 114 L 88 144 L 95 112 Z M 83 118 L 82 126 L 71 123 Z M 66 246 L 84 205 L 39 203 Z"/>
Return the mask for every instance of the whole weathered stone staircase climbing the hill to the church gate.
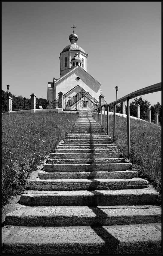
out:
<path id="1" fill-rule="evenodd" d="M 6 215 L 2 254 L 161 254 L 158 192 L 90 112 L 50 154 Z"/>

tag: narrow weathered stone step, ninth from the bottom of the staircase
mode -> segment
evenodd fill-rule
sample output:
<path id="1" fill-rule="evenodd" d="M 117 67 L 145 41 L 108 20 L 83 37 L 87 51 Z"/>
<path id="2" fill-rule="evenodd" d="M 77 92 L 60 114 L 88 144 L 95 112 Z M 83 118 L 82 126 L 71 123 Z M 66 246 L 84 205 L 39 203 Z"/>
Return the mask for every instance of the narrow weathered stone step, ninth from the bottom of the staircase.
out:
<path id="1" fill-rule="evenodd" d="M 109 153 L 109 152 L 118 152 L 117 148 L 106 148 L 106 149 L 55 149 L 54 153 L 69 153 L 71 151 L 71 153 Z"/>

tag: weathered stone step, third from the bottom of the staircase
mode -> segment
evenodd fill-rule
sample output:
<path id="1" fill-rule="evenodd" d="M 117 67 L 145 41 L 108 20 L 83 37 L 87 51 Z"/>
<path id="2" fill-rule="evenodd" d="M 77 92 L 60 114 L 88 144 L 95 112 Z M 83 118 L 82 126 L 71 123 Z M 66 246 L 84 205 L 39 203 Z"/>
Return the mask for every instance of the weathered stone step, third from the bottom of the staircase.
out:
<path id="1" fill-rule="evenodd" d="M 28 206 L 101 206 L 157 204 L 159 193 L 145 189 L 94 191 L 26 191 L 21 204 Z"/>

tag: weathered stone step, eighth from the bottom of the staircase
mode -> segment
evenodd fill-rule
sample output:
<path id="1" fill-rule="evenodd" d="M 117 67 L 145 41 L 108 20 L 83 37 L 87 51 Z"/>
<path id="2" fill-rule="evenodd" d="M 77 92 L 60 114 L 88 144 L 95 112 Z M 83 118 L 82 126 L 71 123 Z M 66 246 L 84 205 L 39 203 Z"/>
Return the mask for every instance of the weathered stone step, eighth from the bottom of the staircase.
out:
<path id="1" fill-rule="evenodd" d="M 122 153 L 51 153 L 51 158 L 55 159 L 75 159 L 75 158 L 122 158 Z"/>

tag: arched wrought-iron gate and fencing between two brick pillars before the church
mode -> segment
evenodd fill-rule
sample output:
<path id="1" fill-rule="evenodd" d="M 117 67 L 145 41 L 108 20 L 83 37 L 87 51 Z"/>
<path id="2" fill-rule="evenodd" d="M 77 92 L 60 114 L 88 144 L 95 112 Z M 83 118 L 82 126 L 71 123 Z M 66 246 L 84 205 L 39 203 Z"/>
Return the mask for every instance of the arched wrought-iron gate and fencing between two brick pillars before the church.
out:
<path id="1" fill-rule="evenodd" d="M 99 106 L 98 100 L 91 98 L 87 92 L 80 91 L 72 97 L 63 95 L 63 109 L 65 110 L 91 111 L 92 104 L 94 107 Z"/>

